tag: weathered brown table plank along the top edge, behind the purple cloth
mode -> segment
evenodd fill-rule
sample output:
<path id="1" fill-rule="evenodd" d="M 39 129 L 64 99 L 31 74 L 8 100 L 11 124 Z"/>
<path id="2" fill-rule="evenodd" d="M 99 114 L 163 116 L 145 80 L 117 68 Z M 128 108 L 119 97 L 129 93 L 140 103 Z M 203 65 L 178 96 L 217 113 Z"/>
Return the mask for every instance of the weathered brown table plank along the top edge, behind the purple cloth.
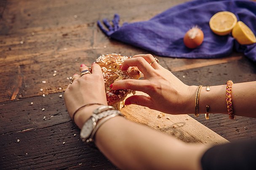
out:
<path id="1" fill-rule="evenodd" d="M 187 0 L 182 0 L 185 2 Z M 7 10 L 3 14 L 5 21 L 0 25 L 0 33 L 16 33 L 27 28 L 52 28 L 67 25 L 93 23 L 99 19 L 112 19 L 115 13 L 127 22 L 144 21 L 154 15 L 181 3 L 179 0 L 143 0 L 122 1 L 109 0 L 12 0 L 8 1 Z M 35 8 L 40 6 L 40 8 Z M 129 9 L 129 10 L 127 10 Z M 74 17 L 77 15 L 77 18 Z M 23 31 L 22 31 L 23 32 Z"/>

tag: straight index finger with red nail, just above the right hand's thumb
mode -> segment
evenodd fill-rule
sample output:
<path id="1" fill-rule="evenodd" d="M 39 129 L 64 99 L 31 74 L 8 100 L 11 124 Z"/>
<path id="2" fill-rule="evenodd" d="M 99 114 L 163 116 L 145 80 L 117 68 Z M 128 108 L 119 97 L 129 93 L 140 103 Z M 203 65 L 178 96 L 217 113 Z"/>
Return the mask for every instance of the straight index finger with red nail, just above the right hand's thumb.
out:
<path id="1" fill-rule="evenodd" d="M 112 90 L 136 90 L 142 91 L 144 93 L 148 92 L 149 82 L 148 80 L 134 80 L 134 79 L 126 79 L 115 81 L 112 85 L 110 85 Z"/>

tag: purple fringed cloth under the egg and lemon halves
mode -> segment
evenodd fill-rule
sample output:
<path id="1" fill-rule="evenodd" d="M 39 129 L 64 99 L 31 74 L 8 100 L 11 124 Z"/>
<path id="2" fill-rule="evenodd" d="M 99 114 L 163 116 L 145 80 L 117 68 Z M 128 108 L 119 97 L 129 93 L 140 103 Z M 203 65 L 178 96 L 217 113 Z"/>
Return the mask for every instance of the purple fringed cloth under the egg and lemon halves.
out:
<path id="1" fill-rule="evenodd" d="M 231 34 L 218 36 L 211 31 L 210 18 L 217 12 L 235 13 L 256 33 L 256 2 L 247 0 L 194 0 L 177 5 L 160 13 L 149 21 L 124 23 L 119 26 L 119 15 L 115 14 L 112 24 L 103 20 L 98 26 L 107 36 L 133 46 L 140 47 L 165 57 L 218 58 L 236 49 L 256 62 L 256 44 L 240 45 Z M 199 26 L 204 33 L 203 44 L 196 49 L 184 46 L 183 37 L 192 26 Z"/>

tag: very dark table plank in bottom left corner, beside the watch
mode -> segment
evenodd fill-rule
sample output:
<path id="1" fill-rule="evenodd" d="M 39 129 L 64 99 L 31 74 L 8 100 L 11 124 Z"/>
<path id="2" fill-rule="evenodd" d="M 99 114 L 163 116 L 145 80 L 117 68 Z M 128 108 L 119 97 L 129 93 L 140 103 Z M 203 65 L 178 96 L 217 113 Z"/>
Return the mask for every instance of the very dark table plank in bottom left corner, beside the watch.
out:
<path id="1" fill-rule="evenodd" d="M 79 130 L 72 121 L 2 134 L 0 146 L 0 169 L 5 170 L 116 169 L 99 150 L 90 148 L 80 140 Z"/>

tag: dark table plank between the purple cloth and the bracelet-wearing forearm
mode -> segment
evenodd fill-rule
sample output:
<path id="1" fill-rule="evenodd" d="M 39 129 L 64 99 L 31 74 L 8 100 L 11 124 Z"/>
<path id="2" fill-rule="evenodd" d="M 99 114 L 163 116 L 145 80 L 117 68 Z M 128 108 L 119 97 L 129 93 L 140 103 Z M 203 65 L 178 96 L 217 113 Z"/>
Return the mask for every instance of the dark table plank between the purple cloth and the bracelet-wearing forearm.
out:
<path id="1" fill-rule="evenodd" d="M 256 81 L 256 64 L 246 58 L 209 67 L 173 72 L 187 85 L 224 85 L 228 80 L 234 83 Z"/>

